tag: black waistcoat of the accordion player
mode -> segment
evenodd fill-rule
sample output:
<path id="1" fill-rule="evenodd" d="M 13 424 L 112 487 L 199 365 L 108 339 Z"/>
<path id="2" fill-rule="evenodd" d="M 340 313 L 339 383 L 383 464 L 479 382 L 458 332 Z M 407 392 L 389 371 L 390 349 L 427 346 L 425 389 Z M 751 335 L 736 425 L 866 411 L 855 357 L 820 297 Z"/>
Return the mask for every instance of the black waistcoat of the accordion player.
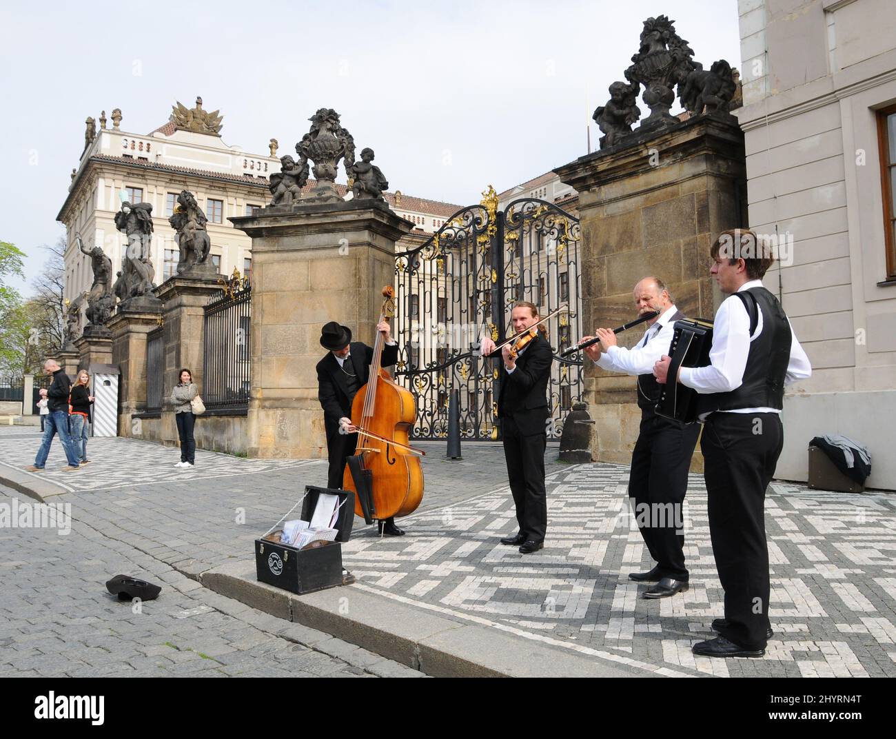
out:
<path id="1" fill-rule="evenodd" d="M 753 300 L 762 313 L 762 333 L 750 342 L 744 381 L 730 392 L 702 395 L 698 412 L 737 410 L 737 408 L 784 408 L 784 378 L 790 362 L 793 335 L 787 314 L 778 298 L 766 288 L 750 288 L 737 293 L 745 300 L 747 313 Z M 751 320 L 752 323 L 752 320 Z"/>

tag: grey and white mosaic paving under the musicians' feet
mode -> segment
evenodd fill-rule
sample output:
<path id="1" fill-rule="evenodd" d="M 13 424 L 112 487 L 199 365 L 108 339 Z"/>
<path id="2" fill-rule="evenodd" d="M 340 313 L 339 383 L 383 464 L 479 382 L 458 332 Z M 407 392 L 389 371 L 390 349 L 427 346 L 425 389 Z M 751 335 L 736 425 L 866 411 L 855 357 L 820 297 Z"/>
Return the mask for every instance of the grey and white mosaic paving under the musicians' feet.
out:
<path id="1" fill-rule="evenodd" d="M 627 579 L 650 556 L 628 511 L 628 468 L 548 477 L 545 548 L 522 555 L 501 488 L 403 520 L 408 536 L 358 531 L 344 559 L 362 587 L 430 611 L 667 675 L 896 675 L 896 496 L 775 484 L 766 499 L 775 636 L 758 659 L 694 657 L 722 615 L 701 476 L 685 504 L 691 588 L 662 600 Z"/>

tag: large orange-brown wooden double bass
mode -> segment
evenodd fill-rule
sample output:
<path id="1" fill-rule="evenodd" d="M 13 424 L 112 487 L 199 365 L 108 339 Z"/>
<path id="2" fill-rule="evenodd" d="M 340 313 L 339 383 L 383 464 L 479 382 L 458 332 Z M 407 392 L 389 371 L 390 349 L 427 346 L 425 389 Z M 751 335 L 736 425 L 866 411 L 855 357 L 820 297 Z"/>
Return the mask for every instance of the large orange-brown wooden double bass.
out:
<path id="1" fill-rule="evenodd" d="M 379 322 L 395 315 L 395 291 L 383 288 Z M 423 499 L 425 452 L 409 446 L 408 434 L 417 417 L 414 396 L 383 369 L 383 334 L 376 332 L 370 379 L 351 404 L 351 423 L 358 429 L 358 447 L 349 457 L 342 487 L 355 493 L 355 513 L 364 520 L 407 516 Z"/>

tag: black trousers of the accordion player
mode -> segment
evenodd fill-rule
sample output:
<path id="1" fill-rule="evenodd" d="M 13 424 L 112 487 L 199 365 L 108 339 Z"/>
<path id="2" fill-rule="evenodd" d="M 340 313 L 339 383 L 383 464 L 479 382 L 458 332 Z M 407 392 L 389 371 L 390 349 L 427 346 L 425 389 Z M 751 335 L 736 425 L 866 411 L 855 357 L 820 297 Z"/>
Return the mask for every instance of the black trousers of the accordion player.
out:
<path id="1" fill-rule="evenodd" d="M 703 427 L 712 554 L 728 622 L 720 633 L 745 649 L 764 649 L 770 625 L 765 489 L 783 445 L 777 413 L 716 412 Z"/>

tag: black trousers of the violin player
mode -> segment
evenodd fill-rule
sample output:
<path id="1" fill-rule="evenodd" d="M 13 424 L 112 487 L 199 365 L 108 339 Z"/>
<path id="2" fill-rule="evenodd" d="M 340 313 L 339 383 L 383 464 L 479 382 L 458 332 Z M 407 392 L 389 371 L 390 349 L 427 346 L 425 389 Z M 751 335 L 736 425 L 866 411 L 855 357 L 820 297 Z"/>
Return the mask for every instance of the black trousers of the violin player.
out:
<path id="1" fill-rule="evenodd" d="M 527 541 L 544 541 L 547 531 L 547 433 L 523 436 L 513 417 L 508 416 L 501 420 L 501 435 L 520 533 Z"/>

